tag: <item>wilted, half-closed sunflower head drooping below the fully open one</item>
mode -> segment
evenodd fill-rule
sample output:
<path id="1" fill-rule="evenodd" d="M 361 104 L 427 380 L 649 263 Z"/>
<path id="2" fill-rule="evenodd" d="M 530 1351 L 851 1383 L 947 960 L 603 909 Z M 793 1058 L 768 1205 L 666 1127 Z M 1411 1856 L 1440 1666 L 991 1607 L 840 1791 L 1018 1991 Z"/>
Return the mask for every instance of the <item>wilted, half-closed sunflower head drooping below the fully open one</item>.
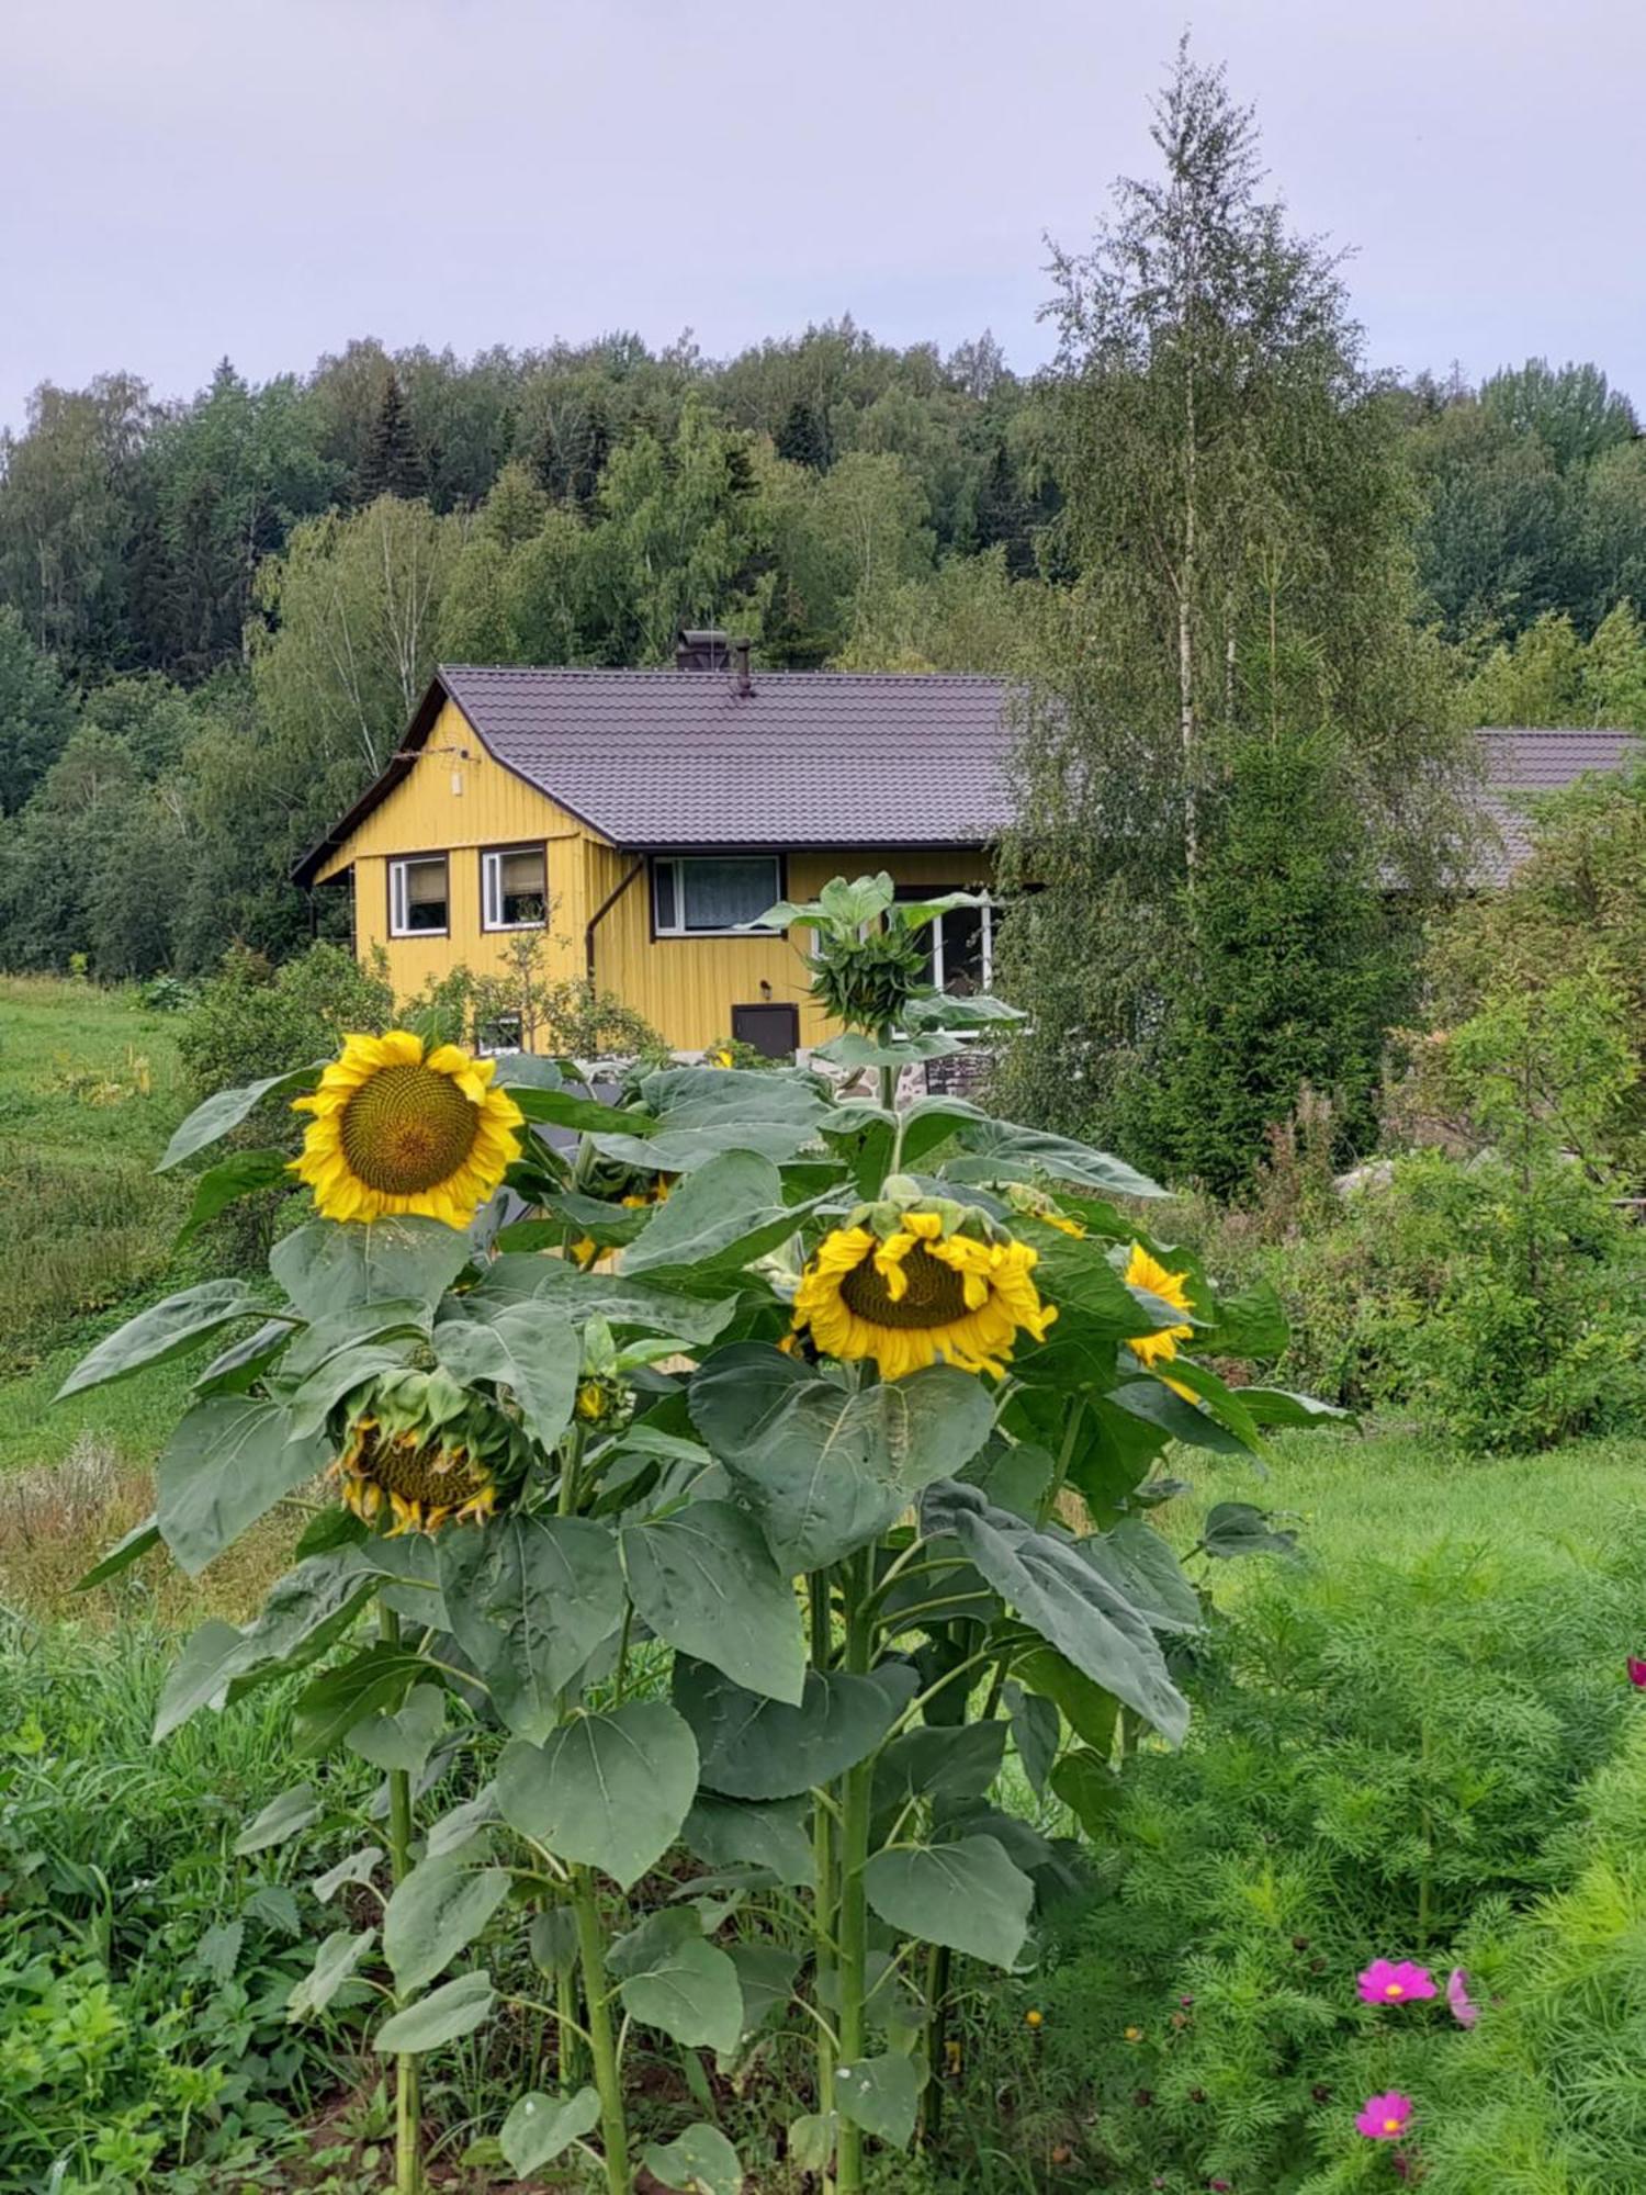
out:
<path id="1" fill-rule="evenodd" d="M 331 1464 L 342 1501 L 388 1536 L 483 1523 L 525 1475 L 520 1433 L 439 1372 L 395 1372 L 349 1405 Z"/>

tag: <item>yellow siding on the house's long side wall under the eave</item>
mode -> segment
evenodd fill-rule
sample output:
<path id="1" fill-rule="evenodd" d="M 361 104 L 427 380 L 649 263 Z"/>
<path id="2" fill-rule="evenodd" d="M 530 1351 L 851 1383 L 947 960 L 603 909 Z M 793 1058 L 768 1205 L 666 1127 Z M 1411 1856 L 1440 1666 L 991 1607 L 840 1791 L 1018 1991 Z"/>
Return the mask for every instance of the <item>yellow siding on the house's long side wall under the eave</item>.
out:
<path id="1" fill-rule="evenodd" d="M 634 867 L 632 854 L 588 843 L 588 907 L 601 904 Z M 988 876 L 988 856 L 898 847 L 838 847 L 788 856 L 788 896 L 814 900 L 832 876 L 871 876 L 887 869 L 898 885 L 974 885 Z M 617 992 L 663 1032 L 669 1045 L 700 1051 L 731 1036 L 733 1005 L 797 1005 L 801 1043 L 819 1045 L 836 1025 L 805 997 L 803 942 L 788 937 L 652 937 L 652 878 L 643 867 L 595 933 L 595 981 Z M 762 983 L 770 990 L 762 992 Z"/>

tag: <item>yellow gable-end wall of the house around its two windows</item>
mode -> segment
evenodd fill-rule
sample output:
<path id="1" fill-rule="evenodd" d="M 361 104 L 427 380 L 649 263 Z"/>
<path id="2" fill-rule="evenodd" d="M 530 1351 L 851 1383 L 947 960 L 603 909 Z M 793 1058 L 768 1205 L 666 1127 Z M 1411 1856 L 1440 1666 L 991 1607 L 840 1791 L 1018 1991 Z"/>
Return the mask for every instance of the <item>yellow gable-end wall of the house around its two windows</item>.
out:
<path id="1" fill-rule="evenodd" d="M 485 847 L 544 845 L 549 863 L 551 979 L 582 975 L 584 966 L 584 825 L 481 746 L 456 702 L 446 702 L 428 744 L 393 792 L 371 810 L 320 869 L 320 880 L 353 865 L 353 946 L 371 959 L 382 946 L 402 997 L 463 964 L 496 975 L 503 953 L 520 931 L 481 926 L 481 854 Z M 388 935 L 388 858 L 446 854 L 448 935 Z"/>

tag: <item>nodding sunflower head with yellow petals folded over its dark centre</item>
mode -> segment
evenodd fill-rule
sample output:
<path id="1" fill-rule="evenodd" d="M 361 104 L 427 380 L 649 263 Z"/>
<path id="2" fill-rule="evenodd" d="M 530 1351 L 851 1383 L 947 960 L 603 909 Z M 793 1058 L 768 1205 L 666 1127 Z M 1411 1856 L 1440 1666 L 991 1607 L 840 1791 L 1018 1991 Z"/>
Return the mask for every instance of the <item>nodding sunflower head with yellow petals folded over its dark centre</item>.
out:
<path id="1" fill-rule="evenodd" d="M 1034 1286 L 1038 1253 L 983 1212 L 887 1183 L 812 1253 L 794 1330 L 823 1357 L 871 1357 L 884 1378 L 931 1363 L 1005 1374 L 1018 1332 L 1045 1341 L 1058 1317 Z"/>

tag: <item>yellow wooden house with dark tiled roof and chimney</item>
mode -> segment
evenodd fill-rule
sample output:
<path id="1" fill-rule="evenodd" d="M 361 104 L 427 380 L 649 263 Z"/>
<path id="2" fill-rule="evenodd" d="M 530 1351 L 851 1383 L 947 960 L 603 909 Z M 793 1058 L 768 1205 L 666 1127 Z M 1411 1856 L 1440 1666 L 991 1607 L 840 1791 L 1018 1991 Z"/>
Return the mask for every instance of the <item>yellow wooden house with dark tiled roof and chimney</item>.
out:
<path id="1" fill-rule="evenodd" d="M 399 994 L 505 968 L 544 937 L 680 1051 L 821 1043 L 805 933 L 748 933 L 777 900 L 887 869 L 911 896 L 988 882 L 1007 819 L 999 678 L 766 672 L 718 632 L 676 669 L 441 665 L 382 777 L 305 856 L 351 889 L 356 953 Z M 933 975 L 990 981 L 992 909 L 944 918 Z"/>

